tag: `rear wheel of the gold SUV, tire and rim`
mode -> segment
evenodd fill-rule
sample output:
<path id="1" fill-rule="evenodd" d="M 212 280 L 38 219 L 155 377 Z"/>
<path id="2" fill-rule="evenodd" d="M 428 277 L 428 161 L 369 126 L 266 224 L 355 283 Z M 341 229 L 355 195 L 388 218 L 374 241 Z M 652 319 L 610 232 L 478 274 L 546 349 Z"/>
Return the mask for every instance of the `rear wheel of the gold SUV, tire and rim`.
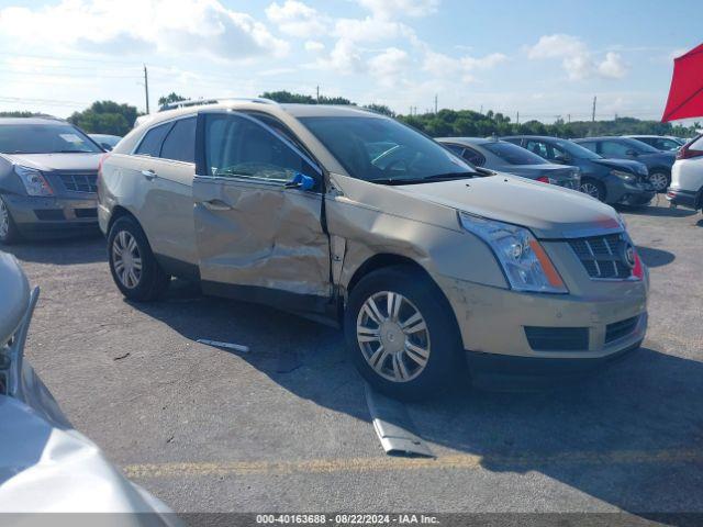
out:
<path id="1" fill-rule="evenodd" d="M 168 289 L 171 277 L 158 265 L 144 231 L 131 216 L 120 217 L 110 228 L 108 261 L 114 283 L 129 300 L 149 302 Z"/>

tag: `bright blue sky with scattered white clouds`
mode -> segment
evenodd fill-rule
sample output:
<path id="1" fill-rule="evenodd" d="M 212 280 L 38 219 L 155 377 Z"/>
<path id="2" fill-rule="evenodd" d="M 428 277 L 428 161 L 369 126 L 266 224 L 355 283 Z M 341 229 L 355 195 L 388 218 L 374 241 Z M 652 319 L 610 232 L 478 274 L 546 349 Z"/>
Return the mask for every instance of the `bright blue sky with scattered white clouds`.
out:
<path id="1" fill-rule="evenodd" d="M 406 113 L 658 119 L 694 0 L 0 0 L 0 109 L 288 89 Z"/>

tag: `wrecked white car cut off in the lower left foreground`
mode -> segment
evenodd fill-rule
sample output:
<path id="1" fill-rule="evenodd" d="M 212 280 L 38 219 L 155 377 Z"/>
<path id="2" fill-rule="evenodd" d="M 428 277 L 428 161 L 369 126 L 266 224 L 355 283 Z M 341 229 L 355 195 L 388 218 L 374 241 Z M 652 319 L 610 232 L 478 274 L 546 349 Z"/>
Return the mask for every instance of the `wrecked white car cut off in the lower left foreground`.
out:
<path id="1" fill-rule="evenodd" d="M 72 428 L 23 360 L 37 299 L 38 288 L 30 292 L 16 260 L 0 251 L 0 516 L 13 518 L 8 525 L 33 526 L 57 522 L 44 513 L 121 513 L 101 515 L 100 522 L 181 525 L 166 505 L 124 478 Z M 5 525 L 2 519 L 0 525 Z M 76 525 L 77 519 L 65 522 Z"/>

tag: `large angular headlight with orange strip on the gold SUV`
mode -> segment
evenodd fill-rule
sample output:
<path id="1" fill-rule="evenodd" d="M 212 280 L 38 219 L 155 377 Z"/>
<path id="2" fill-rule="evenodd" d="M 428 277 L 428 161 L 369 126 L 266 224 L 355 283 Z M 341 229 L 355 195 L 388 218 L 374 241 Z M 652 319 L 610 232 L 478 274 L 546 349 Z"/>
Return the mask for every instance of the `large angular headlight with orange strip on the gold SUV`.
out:
<path id="1" fill-rule="evenodd" d="M 568 293 L 559 272 L 533 234 L 509 223 L 459 213 L 459 223 L 493 249 L 511 289 L 538 293 Z"/>

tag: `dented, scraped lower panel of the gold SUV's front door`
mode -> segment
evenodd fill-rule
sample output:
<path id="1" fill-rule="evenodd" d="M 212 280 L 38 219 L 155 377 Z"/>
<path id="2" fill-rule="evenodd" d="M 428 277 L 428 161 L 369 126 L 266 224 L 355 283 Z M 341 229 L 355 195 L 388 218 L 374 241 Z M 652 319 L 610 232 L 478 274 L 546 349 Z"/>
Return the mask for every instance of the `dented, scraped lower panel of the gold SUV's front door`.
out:
<path id="1" fill-rule="evenodd" d="M 331 295 L 320 194 L 209 177 L 193 193 L 204 281 Z"/>

